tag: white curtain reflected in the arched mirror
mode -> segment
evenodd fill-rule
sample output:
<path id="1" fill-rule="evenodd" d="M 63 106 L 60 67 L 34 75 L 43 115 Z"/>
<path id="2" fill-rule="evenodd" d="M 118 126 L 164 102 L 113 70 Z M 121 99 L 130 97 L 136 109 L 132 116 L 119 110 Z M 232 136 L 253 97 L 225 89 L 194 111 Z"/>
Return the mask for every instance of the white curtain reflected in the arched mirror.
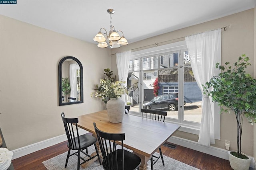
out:
<path id="1" fill-rule="evenodd" d="M 80 69 L 77 63 L 69 65 L 70 97 L 76 98 L 76 70 Z"/>

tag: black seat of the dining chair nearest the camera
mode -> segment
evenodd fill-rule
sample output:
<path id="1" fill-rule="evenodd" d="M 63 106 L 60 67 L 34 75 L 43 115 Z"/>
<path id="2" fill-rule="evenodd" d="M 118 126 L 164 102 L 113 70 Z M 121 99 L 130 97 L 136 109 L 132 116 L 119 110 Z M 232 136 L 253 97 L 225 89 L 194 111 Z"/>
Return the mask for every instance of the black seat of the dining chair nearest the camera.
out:
<path id="1" fill-rule="evenodd" d="M 118 164 L 118 170 L 122 170 L 122 149 L 117 149 L 117 164 Z M 113 152 L 113 156 L 115 157 L 115 152 Z M 110 156 L 110 155 L 108 155 Z M 135 170 L 140 166 L 140 157 L 136 154 L 133 154 L 132 152 L 129 152 L 128 150 L 124 150 L 124 170 Z M 116 164 L 116 161 L 114 160 L 114 164 Z M 105 160 L 103 160 L 102 165 L 104 169 L 108 170 L 106 167 Z M 116 170 L 116 169 L 115 169 Z"/>

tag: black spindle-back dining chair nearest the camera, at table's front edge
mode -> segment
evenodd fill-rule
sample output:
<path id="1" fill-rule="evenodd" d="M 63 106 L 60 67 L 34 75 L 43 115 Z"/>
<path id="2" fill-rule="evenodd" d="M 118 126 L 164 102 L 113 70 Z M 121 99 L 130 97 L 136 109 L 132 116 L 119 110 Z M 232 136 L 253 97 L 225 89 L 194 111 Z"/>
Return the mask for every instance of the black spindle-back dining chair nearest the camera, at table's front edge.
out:
<path id="1" fill-rule="evenodd" d="M 105 170 L 140 170 L 140 157 L 124 149 L 124 133 L 106 133 L 96 127 L 94 129 L 100 145 Z M 122 149 L 116 149 L 116 141 L 120 141 Z"/>

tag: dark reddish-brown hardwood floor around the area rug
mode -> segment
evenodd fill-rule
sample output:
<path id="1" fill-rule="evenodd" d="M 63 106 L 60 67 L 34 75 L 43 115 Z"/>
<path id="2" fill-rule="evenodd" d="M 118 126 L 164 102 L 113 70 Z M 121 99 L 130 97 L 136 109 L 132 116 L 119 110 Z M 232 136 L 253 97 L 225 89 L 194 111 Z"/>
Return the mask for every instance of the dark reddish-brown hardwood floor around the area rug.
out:
<path id="1" fill-rule="evenodd" d="M 44 160 L 48 160 L 58 154 L 68 151 L 66 141 L 57 145 L 39 150 L 37 152 L 22 156 L 12 160 L 15 170 L 47 170 L 42 164 Z M 169 147 L 161 147 L 162 153 L 170 158 L 176 159 L 190 166 L 194 166 L 200 170 L 232 170 L 229 161 L 209 154 L 198 152 L 176 145 L 175 149 Z M 64 165 L 63 165 L 64 166 Z"/>

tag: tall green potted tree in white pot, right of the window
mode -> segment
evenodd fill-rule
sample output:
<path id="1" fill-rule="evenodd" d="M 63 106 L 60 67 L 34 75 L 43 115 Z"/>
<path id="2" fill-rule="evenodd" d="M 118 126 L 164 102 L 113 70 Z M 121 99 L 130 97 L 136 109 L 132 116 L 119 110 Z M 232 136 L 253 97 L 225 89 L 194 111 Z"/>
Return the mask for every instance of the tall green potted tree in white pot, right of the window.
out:
<path id="1" fill-rule="evenodd" d="M 246 74 L 245 68 L 251 65 L 249 58 L 242 55 L 234 67 L 226 62 L 224 66 L 216 63 L 222 72 L 203 85 L 204 94 L 212 97 L 221 106 L 220 112 L 233 111 L 237 126 L 237 151 L 229 151 L 230 166 L 234 170 L 249 169 L 250 159 L 242 153 L 242 127 L 244 116 L 250 123 L 256 122 L 256 79 Z M 246 163 L 240 163 L 245 161 Z M 234 161 L 234 162 L 233 162 Z M 237 165 L 239 167 L 237 167 Z"/>

